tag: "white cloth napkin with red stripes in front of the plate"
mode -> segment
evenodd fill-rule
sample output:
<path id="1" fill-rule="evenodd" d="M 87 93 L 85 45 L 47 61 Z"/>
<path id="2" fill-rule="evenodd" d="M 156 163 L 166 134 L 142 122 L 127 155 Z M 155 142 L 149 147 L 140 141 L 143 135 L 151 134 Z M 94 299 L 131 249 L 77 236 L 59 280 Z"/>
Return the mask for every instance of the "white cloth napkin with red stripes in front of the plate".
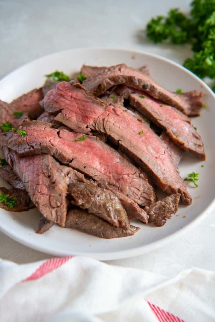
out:
<path id="1" fill-rule="evenodd" d="M 86 257 L 0 260 L 1 322 L 211 322 L 215 272 L 165 277 Z"/>

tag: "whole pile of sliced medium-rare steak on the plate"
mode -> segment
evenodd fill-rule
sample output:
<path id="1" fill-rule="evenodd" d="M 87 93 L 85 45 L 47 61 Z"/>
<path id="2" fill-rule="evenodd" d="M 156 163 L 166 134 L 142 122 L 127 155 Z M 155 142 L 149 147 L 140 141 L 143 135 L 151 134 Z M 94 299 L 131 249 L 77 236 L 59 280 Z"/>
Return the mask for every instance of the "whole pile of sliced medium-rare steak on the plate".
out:
<path id="1" fill-rule="evenodd" d="M 183 151 L 205 160 L 187 117 L 199 115 L 202 93 L 171 93 L 146 66 L 84 65 L 81 72 L 83 85 L 50 79 L 11 104 L 0 102 L 8 163 L 0 175 L 13 185 L 1 188 L 0 205 L 36 206 L 38 233 L 58 223 L 115 238 L 139 230 L 132 219 L 165 224 L 180 200 L 192 202 L 177 168 Z M 157 201 L 155 187 L 169 196 Z"/>

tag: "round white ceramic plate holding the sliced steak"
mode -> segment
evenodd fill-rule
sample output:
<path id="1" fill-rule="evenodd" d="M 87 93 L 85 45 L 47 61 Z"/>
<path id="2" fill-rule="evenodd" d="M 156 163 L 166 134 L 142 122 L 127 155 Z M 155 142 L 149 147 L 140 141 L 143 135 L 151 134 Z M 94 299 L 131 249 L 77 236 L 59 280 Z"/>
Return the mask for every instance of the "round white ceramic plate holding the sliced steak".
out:
<path id="1" fill-rule="evenodd" d="M 192 122 L 205 144 L 207 161 L 201 162 L 187 154 L 179 166 L 183 178 L 192 171 L 200 174 L 199 188 L 194 188 L 191 182 L 187 184 L 193 198 L 192 205 L 180 205 L 177 216 L 173 215 L 163 227 L 134 222 L 141 227 L 139 232 L 132 237 L 112 240 L 57 225 L 43 235 L 37 235 L 35 229 L 39 215 L 35 209 L 24 213 L 9 213 L 0 209 L 0 229 L 11 238 L 53 255 L 80 254 L 99 260 L 113 260 L 140 255 L 172 242 L 175 237 L 200 222 L 211 210 L 215 197 L 215 95 L 204 82 L 180 65 L 156 55 L 117 49 L 88 48 L 58 52 L 30 62 L 2 79 L 0 99 L 10 102 L 24 92 L 40 87 L 44 83 L 44 74 L 56 69 L 72 75 L 80 70 L 83 63 L 110 66 L 122 62 L 132 67 L 147 64 L 151 76 L 169 90 L 174 91 L 179 87 L 183 91 L 196 89 L 205 93 L 207 109 L 203 109 L 201 116 L 193 118 Z M 3 181 L 0 184 L 6 186 Z"/>

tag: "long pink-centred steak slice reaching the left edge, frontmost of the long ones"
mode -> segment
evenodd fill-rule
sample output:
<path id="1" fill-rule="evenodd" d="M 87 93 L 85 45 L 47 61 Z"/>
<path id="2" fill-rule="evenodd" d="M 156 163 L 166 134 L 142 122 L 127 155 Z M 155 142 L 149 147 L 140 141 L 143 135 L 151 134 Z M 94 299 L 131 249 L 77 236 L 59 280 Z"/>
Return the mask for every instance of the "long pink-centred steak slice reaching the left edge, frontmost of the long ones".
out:
<path id="1" fill-rule="evenodd" d="M 1 145 L 20 156 L 51 154 L 143 206 L 156 200 L 153 188 L 141 171 L 98 138 L 87 136 L 83 141 L 75 141 L 82 136 L 65 129 L 55 129 L 52 124 L 42 121 L 23 123 L 22 129 L 27 133 L 25 137 L 14 131 L 1 134 Z"/>

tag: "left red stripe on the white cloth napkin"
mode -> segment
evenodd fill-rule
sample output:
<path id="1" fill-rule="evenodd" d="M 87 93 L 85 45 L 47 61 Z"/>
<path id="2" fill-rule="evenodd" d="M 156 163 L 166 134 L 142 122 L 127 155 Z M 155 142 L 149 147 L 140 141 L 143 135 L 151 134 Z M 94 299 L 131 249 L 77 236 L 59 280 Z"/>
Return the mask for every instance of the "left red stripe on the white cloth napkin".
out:
<path id="1" fill-rule="evenodd" d="M 66 256 L 61 258 L 51 258 L 50 260 L 46 260 L 31 276 L 24 279 L 22 282 L 32 281 L 34 279 L 39 279 L 43 277 L 45 274 L 55 270 L 56 268 L 63 265 L 65 262 L 70 260 L 73 256 Z"/>

